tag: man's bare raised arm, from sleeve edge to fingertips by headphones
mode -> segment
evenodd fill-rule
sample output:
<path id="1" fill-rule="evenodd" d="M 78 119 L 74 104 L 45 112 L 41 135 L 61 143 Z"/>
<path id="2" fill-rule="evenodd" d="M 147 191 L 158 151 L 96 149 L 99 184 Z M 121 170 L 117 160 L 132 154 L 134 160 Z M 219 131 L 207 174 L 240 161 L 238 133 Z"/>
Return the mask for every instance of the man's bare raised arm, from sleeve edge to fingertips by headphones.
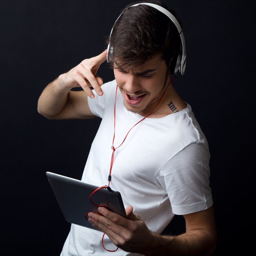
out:
<path id="1" fill-rule="evenodd" d="M 100 65 L 106 60 L 105 50 L 98 56 L 85 59 L 69 72 L 49 83 L 38 99 L 38 112 L 48 119 L 83 119 L 95 117 L 88 106 L 87 96 L 94 98 L 90 87 L 103 95 L 103 80 L 97 76 Z M 71 91 L 81 87 L 83 91 Z"/>

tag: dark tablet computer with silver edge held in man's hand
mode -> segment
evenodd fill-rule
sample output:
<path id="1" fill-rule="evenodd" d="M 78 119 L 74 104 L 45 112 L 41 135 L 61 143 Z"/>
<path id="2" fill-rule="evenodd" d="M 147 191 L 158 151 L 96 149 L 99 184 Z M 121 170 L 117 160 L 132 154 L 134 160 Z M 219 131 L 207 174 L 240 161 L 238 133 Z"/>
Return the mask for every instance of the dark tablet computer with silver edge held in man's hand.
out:
<path id="1" fill-rule="evenodd" d="M 76 225 L 96 229 L 85 218 L 85 213 L 99 213 L 98 207 L 89 200 L 90 194 L 99 186 L 52 172 L 46 172 L 46 175 L 65 220 Z M 95 204 L 103 205 L 127 218 L 119 191 L 99 189 L 92 195 L 91 200 Z"/>

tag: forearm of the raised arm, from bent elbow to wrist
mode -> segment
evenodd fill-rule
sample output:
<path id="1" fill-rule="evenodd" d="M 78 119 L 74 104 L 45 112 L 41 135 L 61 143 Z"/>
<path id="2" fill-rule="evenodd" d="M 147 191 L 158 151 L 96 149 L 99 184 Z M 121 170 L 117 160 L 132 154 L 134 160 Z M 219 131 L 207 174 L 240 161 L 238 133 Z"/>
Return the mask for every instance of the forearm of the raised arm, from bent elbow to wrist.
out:
<path id="1" fill-rule="evenodd" d="M 54 119 L 67 103 L 70 88 L 63 85 L 61 76 L 49 83 L 38 99 L 38 112 L 48 119 Z"/>

